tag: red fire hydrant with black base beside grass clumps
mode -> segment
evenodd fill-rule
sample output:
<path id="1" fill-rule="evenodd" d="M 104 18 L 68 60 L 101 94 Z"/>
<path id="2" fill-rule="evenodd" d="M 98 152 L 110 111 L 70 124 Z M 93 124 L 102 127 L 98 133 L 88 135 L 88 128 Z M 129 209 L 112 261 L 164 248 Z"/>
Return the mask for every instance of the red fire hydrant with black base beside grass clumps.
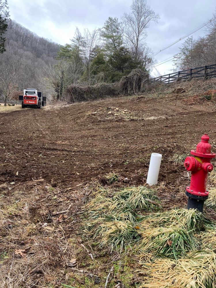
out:
<path id="1" fill-rule="evenodd" d="M 209 191 L 206 190 L 208 173 L 213 170 L 211 158 L 215 158 L 216 154 L 211 152 L 211 144 L 209 144 L 208 134 L 201 137 L 201 142 L 197 144 L 196 151 L 191 150 L 193 156 L 185 159 L 185 169 L 191 171 L 190 187 L 186 188 L 188 196 L 187 209 L 198 209 L 203 211 L 204 201 L 209 196 Z"/>

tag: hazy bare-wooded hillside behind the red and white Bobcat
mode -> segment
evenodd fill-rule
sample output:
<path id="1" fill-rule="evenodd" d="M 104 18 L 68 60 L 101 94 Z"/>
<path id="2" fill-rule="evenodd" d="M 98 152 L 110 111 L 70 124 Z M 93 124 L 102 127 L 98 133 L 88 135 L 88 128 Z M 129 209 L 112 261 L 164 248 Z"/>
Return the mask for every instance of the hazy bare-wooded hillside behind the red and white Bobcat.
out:
<path id="1" fill-rule="evenodd" d="M 37 88 L 46 92 L 47 66 L 54 65 L 60 45 L 39 37 L 13 20 L 8 20 L 5 34 L 6 52 L 0 55 L 1 90 L 13 94 L 24 88 Z M 10 81 L 12 79 L 12 81 Z M 6 85 L 9 83 L 10 85 Z M 7 91 L 4 91 L 7 90 Z"/>

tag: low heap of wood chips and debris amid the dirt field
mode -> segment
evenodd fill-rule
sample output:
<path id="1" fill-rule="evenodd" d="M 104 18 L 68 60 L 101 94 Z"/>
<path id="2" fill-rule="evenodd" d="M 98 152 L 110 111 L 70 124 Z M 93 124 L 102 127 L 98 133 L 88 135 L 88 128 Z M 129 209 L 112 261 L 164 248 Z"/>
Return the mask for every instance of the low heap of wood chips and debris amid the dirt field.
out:
<path id="1" fill-rule="evenodd" d="M 129 111 L 128 109 L 120 109 L 117 107 L 105 107 L 99 108 L 94 112 L 88 112 L 87 116 L 92 116 L 97 118 L 98 120 L 123 120 L 123 121 L 130 121 L 130 120 L 138 120 L 141 119 L 137 112 Z"/>

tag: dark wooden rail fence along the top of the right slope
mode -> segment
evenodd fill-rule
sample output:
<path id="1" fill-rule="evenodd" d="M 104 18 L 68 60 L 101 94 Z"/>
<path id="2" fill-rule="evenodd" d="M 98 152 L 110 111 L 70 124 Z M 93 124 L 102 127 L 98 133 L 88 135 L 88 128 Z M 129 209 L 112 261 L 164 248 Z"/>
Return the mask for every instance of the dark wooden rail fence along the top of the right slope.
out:
<path id="1" fill-rule="evenodd" d="M 209 79 L 216 77 L 216 64 L 207 65 L 203 67 L 196 67 L 192 69 L 182 70 L 166 75 L 162 75 L 151 79 L 151 83 L 171 83 L 177 80 L 187 80 L 192 78 L 204 78 Z"/>

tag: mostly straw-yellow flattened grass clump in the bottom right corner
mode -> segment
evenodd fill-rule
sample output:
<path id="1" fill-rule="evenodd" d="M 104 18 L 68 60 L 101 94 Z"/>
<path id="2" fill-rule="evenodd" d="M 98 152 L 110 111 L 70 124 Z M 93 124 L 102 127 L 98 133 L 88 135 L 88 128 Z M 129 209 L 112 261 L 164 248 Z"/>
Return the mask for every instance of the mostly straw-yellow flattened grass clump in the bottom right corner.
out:
<path id="1" fill-rule="evenodd" d="M 140 288 L 213 288 L 216 283 L 216 254 L 195 251 L 180 259 L 157 259 L 143 263 Z"/>

